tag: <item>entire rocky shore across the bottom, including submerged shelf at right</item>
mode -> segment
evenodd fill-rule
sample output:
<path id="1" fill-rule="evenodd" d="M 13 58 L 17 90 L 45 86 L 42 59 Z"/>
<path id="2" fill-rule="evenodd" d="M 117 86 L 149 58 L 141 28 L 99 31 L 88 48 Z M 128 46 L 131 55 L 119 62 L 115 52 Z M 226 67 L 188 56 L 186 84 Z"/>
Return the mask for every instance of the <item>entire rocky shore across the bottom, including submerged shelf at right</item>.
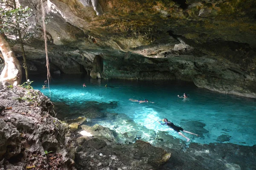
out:
<path id="1" fill-rule="evenodd" d="M 187 145 L 164 132 L 119 144 L 113 130 L 62 122 L 40 91 L 0 85 L 0 170 L 253 170 L 256 145 Z"/>

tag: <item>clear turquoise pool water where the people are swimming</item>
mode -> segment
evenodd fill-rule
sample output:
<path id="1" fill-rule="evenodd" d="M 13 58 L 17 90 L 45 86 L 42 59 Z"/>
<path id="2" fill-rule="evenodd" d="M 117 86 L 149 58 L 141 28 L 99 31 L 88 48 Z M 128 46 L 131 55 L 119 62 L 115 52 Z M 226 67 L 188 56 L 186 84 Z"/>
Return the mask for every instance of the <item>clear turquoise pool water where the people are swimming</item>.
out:
<path id="1" fill-rule="evenodd" d="M 34 89 L 42 90 L 46 78 L 30 77 Z M 85 83 L 87 87 L 83 88 Z M 113 86 L 114 88 L 105 85 Z M 185 142 L 185 138 L 156 120 L 169 119 L 184 130 L 191 142 L 256 144 L 256 99 L 226 95 L 197 88 L 191 82 L 130 81 L 90 79 L 74 75 L 53 77 L 50 82 L 51 101 L 59 119 L 88 118 L 87 125 L 99 124 L 120 134 L 136 134 L 154 142 L 164 131 Z M 189 94 L 181 99 L 177 94 Z M 148 99 L 154 103 L 131 102 Z"/>

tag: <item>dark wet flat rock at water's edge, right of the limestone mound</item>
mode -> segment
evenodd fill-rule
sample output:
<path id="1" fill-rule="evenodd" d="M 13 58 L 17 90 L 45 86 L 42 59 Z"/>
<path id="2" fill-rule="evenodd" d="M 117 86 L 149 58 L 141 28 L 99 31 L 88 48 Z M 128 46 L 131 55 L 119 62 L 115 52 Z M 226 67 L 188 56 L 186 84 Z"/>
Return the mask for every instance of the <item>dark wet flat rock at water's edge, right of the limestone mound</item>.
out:
<path id="1" fill-rule="evenodd" d="M 134 144 L 119 144 L 116 140 L 109 138 L 110 130 L 100 125 L 94 125 L 93 127 L 82 125 L 82 128 L 94 133 L 94 137 L 83 137 L 87 144 L 81 142 L 81 147 L 84 149 L 76 150 L 75 161 L 81 169 L 83 167 L 93 168 L 98 166 L 99 163 L 101 163 L 100 166 L 106 169 L 108 167 L 111 169 L 124 167 L 124 170 L 150 169 L 164 164 L 171 156 L 171 153 L 167 153 L 165 150 L 141 140 L 137 140 Z M 100 132 L 99 134 L 97 134 L 98 131 Z M 104 134 L 108 134 L 107 137 L 111 140 L 106 140 Z M 88 159 L 89 156 L 94 163 L 83 161 Z M 104 163 L 102 163 L 102 159 Z"/>

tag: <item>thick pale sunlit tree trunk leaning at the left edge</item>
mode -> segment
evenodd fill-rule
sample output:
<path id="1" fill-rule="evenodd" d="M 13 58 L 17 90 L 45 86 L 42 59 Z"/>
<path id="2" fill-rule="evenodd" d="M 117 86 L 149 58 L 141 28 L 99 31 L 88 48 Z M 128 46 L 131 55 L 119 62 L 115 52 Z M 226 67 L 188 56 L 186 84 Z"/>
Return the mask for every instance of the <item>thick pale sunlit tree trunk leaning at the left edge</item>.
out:
<path id="1" fill-rule="evenodd" d="M 21 66 L 14 55 L 12 48 L 9 43 L 4 39 L 4 37 L 0 34 L 0 51 L 3 54 L 4 58 L 4 68 L 0 75 L 0 81 L 6 81 L 11 83 L 11 85 L 19 85 L 21 82 Z"/>

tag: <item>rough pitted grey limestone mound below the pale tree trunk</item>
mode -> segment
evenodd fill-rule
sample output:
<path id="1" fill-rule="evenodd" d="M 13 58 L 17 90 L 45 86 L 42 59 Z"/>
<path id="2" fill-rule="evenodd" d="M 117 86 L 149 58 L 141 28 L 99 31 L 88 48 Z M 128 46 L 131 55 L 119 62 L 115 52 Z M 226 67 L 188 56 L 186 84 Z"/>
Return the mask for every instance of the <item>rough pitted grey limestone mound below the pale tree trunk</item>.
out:
<path id="1" fill-rule="evenodd" d="M 36 90 L 0 85 L 0 106 L 1 167 L 72 169 L 74 161 L 65 147 L 65 128 L 49 115 L 54 111 L 46 96 Z"/>

